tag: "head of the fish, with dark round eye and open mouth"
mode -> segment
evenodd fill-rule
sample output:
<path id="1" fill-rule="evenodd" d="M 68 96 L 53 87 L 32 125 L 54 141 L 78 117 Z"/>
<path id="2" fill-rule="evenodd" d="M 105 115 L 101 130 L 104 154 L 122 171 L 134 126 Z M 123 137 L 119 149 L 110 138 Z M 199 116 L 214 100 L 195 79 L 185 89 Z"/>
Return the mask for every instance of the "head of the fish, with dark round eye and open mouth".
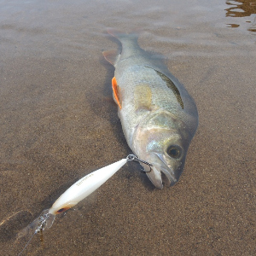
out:
<path id="1" fill-rule="evenodd" d="M 162 189 L 163 182 L 169 186 L 177 183 L 190 138 L 186 126 L 170 119 L 169 114 L 161 114 L 137 126 L 133 149 L 138 158 L 153 165 L 141 164 L 156 188 Z"/>

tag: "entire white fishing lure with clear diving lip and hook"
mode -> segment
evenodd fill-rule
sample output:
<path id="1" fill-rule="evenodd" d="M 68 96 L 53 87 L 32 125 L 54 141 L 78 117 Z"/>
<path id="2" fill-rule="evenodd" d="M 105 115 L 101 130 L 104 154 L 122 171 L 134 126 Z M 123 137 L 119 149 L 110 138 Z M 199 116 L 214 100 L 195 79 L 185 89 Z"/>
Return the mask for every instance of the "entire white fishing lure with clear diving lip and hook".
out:
<path id="1" fill-rule="evenodd" d="M 98 189 L 108 180 L 108 178 L 112 177 L 115 172 L 119 171 L 121 167 L 125 166 L 127 161 L 133 160 L 148 165 L 151 170 L 152 165 L 150 163 L 144 160 L 139 160 L 134 154 L 129 154 L 126 158 L 114 162 L 109 166 L 102 167 L 95 172 L 91 172 L 80 178 L 76 183 L 73 183 L 73 185 L 55 201 L 52 207 L 44 210 L 38 218 L 26 226 L 24 230 L 20 231 L 18 238 L 26 236 L 30 237 L 30 239 L 27 241 L 26 246 L 22 249 L 18 256 L 24 252 L 27 245 L 30 243 L 30 241 L 32 241 L 33 236 L 38 233 L 43 234 L 44 230 L 49 229 L 52 226 L 55 221 L 55 215 L 74 207 L 79 203 L 79 201 L 82 201 L 85 197 Z M 150 170 L 148 172 L 150 172 Z"/>

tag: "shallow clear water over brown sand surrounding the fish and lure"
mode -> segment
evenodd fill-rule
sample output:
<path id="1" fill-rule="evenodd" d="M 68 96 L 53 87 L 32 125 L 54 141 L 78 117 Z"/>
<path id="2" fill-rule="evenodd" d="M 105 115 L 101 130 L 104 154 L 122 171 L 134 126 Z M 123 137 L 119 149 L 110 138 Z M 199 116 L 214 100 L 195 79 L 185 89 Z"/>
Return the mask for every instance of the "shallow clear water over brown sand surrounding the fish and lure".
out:
<path id="1" fill-rule="evenodd" d="M 0 1 L 0 247 L 86 173 L 130 154 L 112 100 L 118 47 L 141 30 L 194 97 L 200 125 L 175 187 L 125 166 L 27 255 L 255 255 L 255 1 Z"/>

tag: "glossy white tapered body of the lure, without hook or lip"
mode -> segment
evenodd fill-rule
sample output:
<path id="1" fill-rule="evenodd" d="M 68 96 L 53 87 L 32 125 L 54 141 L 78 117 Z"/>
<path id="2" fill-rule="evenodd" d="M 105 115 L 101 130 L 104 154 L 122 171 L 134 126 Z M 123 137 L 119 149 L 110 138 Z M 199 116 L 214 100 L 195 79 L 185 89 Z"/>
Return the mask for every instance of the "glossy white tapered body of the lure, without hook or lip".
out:
<path id="1" fill-rule="evenodd" d="M 52 207 L 49 208 L 49 213 L 55 215 L 75 206 L 79 201 L 98 189 L 122 166 L 125 166 L 126 161 L 126 159 L 119 160 L 80 178 L 55 201 Z"/>

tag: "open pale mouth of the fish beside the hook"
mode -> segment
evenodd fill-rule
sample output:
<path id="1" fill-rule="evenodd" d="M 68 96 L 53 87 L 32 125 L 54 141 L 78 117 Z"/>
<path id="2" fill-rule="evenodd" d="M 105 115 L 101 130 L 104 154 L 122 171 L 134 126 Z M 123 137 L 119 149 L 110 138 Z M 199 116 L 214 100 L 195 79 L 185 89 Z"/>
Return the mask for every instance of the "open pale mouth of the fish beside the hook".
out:
<path id="1" fill-rule="evenodd" d="M 147 176 L 150 181 L 154 184 L 157 189 L 163 189 L 163 182 L 167 186 L 173 186 L 177 183 L 177 178 L 169 166 L 167 166 L 166 160 L 163 158 L 162 154 L 154 153 L 157 158 L 154 162 L 151 162 L 150 172 L 147 172 Z"/>

